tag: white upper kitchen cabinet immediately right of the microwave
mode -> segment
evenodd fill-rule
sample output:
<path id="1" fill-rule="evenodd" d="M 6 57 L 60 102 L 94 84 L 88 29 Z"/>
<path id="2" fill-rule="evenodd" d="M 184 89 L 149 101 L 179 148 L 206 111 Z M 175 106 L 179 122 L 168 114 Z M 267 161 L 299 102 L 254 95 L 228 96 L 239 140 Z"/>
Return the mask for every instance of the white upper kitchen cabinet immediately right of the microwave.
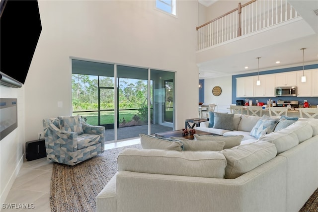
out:
<path id="1" fill-rule="evenodd" d="M 304 76 L 306 76 L 306 82 L 302 82 L 302 76 L 303 76 L 303 71 L 296 71 L 297 72 L 297 96 L 302 97 L 302 96 L 312 96 L 312 84 L 315 83 L 313 81 L 312 77 L 312 70 L 305 70 L 304 71 Z M 316 78 L 316 83 L 317 83 L 317 78 Z"/>

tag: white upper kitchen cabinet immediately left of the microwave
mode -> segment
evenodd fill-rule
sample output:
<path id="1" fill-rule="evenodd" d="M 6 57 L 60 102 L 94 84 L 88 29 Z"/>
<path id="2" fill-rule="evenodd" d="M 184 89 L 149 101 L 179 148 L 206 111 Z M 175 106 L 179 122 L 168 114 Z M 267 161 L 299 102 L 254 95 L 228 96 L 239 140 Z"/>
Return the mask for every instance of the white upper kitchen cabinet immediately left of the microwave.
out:
<path id="1" fill-rule="evenodd" d="M 275 97 L 275 75 L 260 75 L 260 85 L 256 85 L 258 76 L 254 76 L 254 97 Z"/>

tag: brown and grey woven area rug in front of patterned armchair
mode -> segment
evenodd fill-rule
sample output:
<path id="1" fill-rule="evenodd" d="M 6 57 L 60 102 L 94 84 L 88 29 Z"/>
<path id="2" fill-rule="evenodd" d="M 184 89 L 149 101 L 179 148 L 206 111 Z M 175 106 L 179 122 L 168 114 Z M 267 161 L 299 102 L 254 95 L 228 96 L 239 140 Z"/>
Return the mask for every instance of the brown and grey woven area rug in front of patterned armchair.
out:
<path id="1" fill-rule="evenodd" d="M 95 212 L 96 196 L 117 172 L 117 156 L 125 148 L 107 149 L 75 166 L 53 164 L 50 205 L 52 212 Z"/>

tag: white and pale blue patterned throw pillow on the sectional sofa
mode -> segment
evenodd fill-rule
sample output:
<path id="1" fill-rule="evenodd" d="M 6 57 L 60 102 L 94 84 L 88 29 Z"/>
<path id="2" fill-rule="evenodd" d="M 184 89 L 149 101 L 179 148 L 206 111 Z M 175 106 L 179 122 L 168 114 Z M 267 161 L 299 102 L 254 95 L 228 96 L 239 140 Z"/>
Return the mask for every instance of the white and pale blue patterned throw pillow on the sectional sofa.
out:
<path id="1" fill-rule="evenodd" d="M 259 139 L 259 137 L 273 132 L 277 122 L 278 120 L 271 119 L 264 115 L 262 119 L 257 121 L 249 135 Z"/>

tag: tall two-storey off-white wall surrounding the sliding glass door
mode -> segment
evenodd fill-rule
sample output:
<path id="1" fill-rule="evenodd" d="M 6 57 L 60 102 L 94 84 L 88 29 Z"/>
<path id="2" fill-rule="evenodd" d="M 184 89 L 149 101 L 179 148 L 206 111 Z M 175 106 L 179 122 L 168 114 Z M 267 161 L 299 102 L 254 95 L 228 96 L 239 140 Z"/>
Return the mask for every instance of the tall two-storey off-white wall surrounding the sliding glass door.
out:
<path id="1" fill-rule="evenodd" d="M 26 140 L 37 139 L 43 118 L 72 114 L 70 57 L 176 71 L 176 129 L 197 117 L 198 1 L 177 3 L 175 18 L 148 0 L 39 1 L 43 29 L 25 82 Z"/>

